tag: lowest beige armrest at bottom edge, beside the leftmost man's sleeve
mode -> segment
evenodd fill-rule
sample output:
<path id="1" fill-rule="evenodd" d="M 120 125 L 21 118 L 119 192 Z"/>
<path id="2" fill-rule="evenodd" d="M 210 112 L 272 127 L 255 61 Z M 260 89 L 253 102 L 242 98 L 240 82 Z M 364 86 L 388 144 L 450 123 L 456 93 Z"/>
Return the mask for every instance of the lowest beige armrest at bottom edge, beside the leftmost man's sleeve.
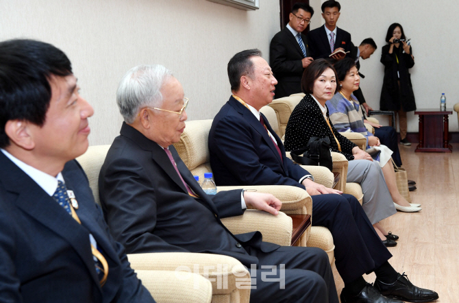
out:
<path id="1" fill-rule="evenodd" d="M 156 302 L 201 303 L 212 301 L 212 284 L 203 276 L 175 271 L 136 270 L 137 277 Z"/>

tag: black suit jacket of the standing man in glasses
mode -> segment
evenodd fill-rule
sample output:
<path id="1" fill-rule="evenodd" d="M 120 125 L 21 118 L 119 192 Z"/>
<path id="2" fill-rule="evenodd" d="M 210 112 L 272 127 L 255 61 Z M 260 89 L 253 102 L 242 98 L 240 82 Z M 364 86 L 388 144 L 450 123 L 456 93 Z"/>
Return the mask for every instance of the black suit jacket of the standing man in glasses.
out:
<path id="1" fill-rule="evenodd" d="M 303 34 L 301 39 L 306 47 L 306 56 L 310 56 L 308 39 Z M 287 27 L 275 34 L 269 45 L 269 65 L 278 82 L 275 86 L 276 99 L 301 93 L 303 58 L 297 39 Z"/>

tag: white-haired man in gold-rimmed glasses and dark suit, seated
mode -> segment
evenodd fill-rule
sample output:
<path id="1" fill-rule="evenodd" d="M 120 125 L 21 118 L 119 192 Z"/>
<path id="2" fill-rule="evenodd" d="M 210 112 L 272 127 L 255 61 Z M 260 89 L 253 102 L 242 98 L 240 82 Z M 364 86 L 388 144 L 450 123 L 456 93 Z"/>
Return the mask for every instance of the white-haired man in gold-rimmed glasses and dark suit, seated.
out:
<path id="1" fill-rule="evenodd" d="M 99 191 L 110 230 L 127 252 L 224 254 L 251 271 L 251 302 L 338 302 L 323 250 L 280 247 L 263 242 L 260 232 L 234 235 L 223 225 L 221 218 L 243 215 L 247 206 L 277 215 L 281 202 L 264 193 L 203 192 L 172 145 L 184 131 L 188 99 L 170 71 L 131 69 L 116 101 L 125 122 L 101 169 Z M 263 278 L 266 265 L 277 280 Z"/>

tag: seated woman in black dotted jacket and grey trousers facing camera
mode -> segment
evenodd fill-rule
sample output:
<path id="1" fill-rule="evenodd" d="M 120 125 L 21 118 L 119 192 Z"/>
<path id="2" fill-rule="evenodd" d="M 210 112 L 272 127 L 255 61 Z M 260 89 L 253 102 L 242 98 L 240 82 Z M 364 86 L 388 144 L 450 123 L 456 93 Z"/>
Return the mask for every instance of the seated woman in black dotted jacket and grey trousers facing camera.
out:
<path id="1" fill-rule="evenodd" d="M 336 71 L 325 59 L 311 62 L 301 79 L 301 90 L 306 96 L 295 107 L 288 119 L 285 133 L 285 149 L 293 151 L 308 145 L 312 136 L 328 137 L 330 148 L 343 154 L 349 165 L 347 182 L 362 186 L 362 208 L 386 246 L 395 246 L 397 236 L 389 234 L 379 222 L 394 215 L 397 210 L 390 196 L 382 169 L 377 162 L 357 145 L 347 140 L 330 123 L 325 102 L 332 99 L 336 90 Z"/>

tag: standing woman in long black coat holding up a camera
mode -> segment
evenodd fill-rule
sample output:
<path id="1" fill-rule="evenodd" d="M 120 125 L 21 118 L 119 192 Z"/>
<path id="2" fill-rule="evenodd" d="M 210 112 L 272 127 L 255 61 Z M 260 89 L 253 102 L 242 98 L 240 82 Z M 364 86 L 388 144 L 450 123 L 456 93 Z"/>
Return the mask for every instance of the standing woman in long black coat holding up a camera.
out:
<path id="1" fill-rule="evenodd" d="M 399 23 L 389 26 L 386 34 L 388 45 L 382 47 L 381 63 L 384 64 L 380 109 L 393 110 L 399 117 L 400 143 L 411 145 L 406 138 L 406 112 L 416 110 L 411 75 L 414 66 L 412 48 L 407 43 L 404 28 Z M 395 125 L 393 125 L 395 127 Z"/>

